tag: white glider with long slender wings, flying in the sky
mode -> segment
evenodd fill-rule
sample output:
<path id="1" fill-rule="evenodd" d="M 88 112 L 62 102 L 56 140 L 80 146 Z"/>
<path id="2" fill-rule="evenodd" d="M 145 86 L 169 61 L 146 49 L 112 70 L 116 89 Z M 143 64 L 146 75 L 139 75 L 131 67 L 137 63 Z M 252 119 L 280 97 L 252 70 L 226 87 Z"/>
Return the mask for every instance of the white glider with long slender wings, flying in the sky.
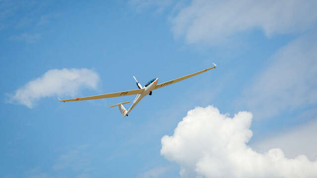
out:
<path id="1" fill-rule="evenodd" d="M 101 94 L 101 95 L 96 95 L 96 96 L 87 96 L 87 97 L 80 97 L 80 98 L 73 98 L 73 99 L 64 99 L 61 100 L 58 98 L 58 100 L 60 102 L 68 102 L 68 101 L 83 101 L 83 100 L 91 100 L 91 99 L 102 99 L 102 98 L 110 98 L 110 97 L 118 97 L 118 96 L 128 96 L 128 95 L 133 95 L 136 94 L 137 96 L 135 97 L 132 105 L 130 106 L 129 110 L 126 110 L 123 106 L 123 104 L 127 104 L 128 102 L 121 102 L 110 107 L 114 107 L 114 106 L 118 106 L 120 113 L 122 114 L 123 117 L 128 116 L 128 114 L 131 112 L 131 110 L 141 101 L 141 99 L 146 96 L 147 94 L 152 95 L 152 91 L 155 89 L 159 89 L 162 87 L 166 87 L 168 85 L 171 84 L 175 84 L 176 82 L 188 79 L 190 77 L 193 77 L 195 75 L 201 74 L 203 72 L 209 71 L 211 69 L 214 69 L 217 65 L 215 65 L 214 63 L 213 67 L 208 68 L 208 69 L 204 69 L 202 71 L 199 72 L 195 72 L 193 74 L 184 76 L 184 77 L 180 77 L 171 81 L 167 81 L 161 84 L 158 84 L 159 78 L 155 78 L 152 79 L 151 81 L 149 81 L 144 87 L 142 87 L 142 85 L 137 81 L 137 79 L 133 76 L 134 80 L 137 82 L 137 87 L 139 89 L 133 89 L 133 90 L 129 90 L 129 91 L 121 91 L 121 92 L 115 92 L 115 93 L 108 93 L 108 94 Z"/>

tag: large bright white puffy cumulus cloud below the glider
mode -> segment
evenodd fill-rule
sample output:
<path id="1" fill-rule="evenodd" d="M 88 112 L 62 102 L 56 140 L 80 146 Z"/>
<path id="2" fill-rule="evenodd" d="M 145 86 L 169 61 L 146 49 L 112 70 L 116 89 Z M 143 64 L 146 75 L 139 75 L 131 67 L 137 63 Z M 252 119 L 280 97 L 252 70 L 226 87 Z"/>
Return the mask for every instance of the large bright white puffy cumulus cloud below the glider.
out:
<path id="1" fill-rule="evenodd" d="M 317 161 L 305 155 L 288 159 L 279 148 L 258 153 L 247 145 L 252 137 L 250 112 L 233 118 L 213 106 L 190 110 L 172 136 L 161 138 L 161 155 L 180 165 L 183 178 L 315 178 Z"/>

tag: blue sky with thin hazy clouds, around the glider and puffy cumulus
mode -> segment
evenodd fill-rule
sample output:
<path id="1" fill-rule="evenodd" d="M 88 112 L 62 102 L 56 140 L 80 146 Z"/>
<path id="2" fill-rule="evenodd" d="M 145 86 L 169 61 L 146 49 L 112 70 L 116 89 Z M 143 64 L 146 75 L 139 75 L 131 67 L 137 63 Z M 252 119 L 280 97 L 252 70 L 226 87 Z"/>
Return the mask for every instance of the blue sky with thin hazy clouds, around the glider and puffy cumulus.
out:
<path id="1" fill-rule="evenodd" d="M 230 117 L 251 112 L 247 145 L 259 154 L 277 147 L 316 165 L 316 5 L 0 1 L 0 177 L 214 176 L 161 151 L 161 138 L 189 110 L 209 105 Z M 212 63 L 218 67 L 153 91 L 126 118 L 107 107 L 134 96 L 57 100 L 137 89 L 132 76 L 161 83 Z"/>

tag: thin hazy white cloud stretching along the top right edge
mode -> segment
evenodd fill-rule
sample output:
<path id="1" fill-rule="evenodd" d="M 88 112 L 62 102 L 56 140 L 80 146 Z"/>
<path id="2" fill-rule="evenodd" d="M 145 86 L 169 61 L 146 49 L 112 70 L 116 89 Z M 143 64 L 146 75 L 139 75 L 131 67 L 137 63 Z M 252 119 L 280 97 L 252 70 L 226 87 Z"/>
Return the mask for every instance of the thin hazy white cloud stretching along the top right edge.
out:
<path id="1" fill-rule="evenodd" d="M 273 34 L 303 32 L 317 22 L 316 0 L 192 0 L 172 18 L 175 36 L 216 44 L 251 29 Z"/>

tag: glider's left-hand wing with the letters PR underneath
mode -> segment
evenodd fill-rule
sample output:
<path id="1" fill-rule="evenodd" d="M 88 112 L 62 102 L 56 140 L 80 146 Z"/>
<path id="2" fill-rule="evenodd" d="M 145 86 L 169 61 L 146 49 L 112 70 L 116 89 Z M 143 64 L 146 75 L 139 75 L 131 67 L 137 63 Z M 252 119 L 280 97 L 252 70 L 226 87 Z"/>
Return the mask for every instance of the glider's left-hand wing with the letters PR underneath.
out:
<path id="1" fill-rule="evenodd" d="M 115 92 L 115 93 L 108 93 L 108 94 L 101 94 L 96 96 L 87 96 L 87 97 L 81 97 L 81 98 L 73 98 L 73 99 L 59 99 L 60 102 L 68 102 L 68 101 L 83 101 L 83 100 L 91 100 L 91 99 L 102 99 L 102 98 L 109 98 L 109 97 L 118 97 L 118 96 L 127 96 L 132 94 L 139 94 L 142 93 L 144 89 L 134 89 L 129 91 L 121 91 L 121 92 Z"/>

